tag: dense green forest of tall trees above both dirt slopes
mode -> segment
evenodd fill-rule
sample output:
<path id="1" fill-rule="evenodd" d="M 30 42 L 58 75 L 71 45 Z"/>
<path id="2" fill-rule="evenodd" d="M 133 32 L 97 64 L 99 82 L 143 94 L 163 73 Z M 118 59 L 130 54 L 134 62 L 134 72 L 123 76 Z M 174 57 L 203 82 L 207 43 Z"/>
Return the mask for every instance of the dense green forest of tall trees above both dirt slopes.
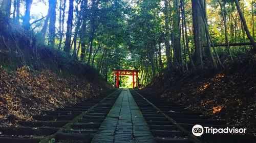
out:
<path id="1" fill-rule="evenodd" d="M 39 6 L 46 15 L 31 12 Z M 164 69 L 224 69 L 256 51 L 253 0 L 2 0 L 1 13 L 110 82 L 113 68 L 139 69 L 146 85 Z"/>

